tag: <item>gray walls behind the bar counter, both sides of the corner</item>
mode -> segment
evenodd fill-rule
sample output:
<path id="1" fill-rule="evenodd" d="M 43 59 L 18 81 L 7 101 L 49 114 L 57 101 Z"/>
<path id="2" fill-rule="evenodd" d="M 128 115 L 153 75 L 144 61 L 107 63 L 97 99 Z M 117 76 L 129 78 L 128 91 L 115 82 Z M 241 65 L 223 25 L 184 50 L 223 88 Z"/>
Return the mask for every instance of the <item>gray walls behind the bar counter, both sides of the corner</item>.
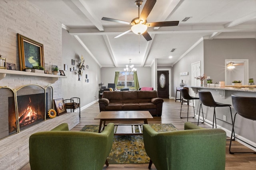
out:
<path id="1" fill-rule="evenodd" d="M 206 39 L 174 64 L 172 96 L 181 80 L 191 85 L 191 63 L 196 61 L 201 61 L 201 75 L 210 76 L 213 83 L 225 81 L 225 59 L 249 59 L 249 78 L 256 79 L 256 39 Z"/>

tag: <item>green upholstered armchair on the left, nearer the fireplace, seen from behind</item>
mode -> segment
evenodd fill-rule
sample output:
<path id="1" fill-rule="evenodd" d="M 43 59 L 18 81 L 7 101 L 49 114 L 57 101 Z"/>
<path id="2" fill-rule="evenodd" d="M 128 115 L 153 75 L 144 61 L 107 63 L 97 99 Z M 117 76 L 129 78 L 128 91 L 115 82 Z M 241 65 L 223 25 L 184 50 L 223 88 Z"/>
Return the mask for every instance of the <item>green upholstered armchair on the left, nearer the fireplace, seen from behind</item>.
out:
<path id="1" fill-rule="evenodd" d="M 102 133 L 68 131 L 63 123 L 29 138 L 31 170 L 102 170 L 114 137 L 114 124 Z"/>

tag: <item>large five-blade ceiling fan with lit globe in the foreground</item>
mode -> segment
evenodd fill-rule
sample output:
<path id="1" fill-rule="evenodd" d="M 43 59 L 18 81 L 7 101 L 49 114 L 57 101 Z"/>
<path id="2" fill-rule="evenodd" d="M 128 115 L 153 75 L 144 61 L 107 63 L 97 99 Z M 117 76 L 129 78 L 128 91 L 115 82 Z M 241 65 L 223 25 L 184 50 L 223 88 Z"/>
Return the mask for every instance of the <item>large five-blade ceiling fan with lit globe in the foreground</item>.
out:
<path id="1" fill-rule="evenodd" d="M 124 23 L 128 25 L 132 25 L 131 29 L 124 31 L 123 33 L 117 35 L 114 38 L 121 37 L 122 35 L 132 31 L 135 34 L 142 34 L 143 37 L 147 40 L 150 41 L 152 38 L 150 37 L 147 28 L 148 27 L 165 27 L 165 26 L 176 26 L 179 24 L 179 21 L 162 21 L 162 22 L 151 22 L 147 23 L 147 18 L 148 15 L 150 14 L 151 10 L 153 9 L 154 5 L 156 4 L 156 0 L 147 0 L 144 8 L 142 9 L 142 12 L 140 14 L 140 6 L 142 5 L 143 1 L 142 0 L 136 0 L 135 4 L 138 6 L 138 17 L 134 18 L 131 22 L 127 21 L 122 21 L 122 20 L 116 20 L 112 18 L 106 18 L 103 17 L 101 20 L 104 21 L 112 21 L 112 22 L 118 22 L 118 23 Z"/>

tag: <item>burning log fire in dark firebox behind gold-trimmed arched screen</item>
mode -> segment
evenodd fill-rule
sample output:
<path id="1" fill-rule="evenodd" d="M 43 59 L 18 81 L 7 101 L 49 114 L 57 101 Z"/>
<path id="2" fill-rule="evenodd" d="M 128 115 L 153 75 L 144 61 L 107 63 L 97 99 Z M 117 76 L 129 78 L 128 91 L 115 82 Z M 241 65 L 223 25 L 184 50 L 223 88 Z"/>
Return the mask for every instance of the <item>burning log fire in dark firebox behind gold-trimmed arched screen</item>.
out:
<path id="1" fill-rule="evenodd" d="M 9 97 L 8 100 L 9 135 L 17 132 L 17 123 L 21 131 L 36 123 L 44 121 L 46 113 L 44 108 L 44 93 L 17 96 L 18 120 L 16 120 L 15 107 L 13 106 L 14 102 L 12 102 L 13 98 Z"/>

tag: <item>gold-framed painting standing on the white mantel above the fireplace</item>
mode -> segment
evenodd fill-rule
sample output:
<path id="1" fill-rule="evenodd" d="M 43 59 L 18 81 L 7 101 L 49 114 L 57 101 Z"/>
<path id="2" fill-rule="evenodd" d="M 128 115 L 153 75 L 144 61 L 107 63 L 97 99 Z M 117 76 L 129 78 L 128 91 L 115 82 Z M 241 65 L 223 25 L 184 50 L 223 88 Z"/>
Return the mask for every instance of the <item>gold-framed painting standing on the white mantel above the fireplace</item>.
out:
<path id="1" fill-rule="evenodd" d="M 20 70 L 33 66 L 44 67 L 44 46 L 30 38 L 18 35 Z"/>

